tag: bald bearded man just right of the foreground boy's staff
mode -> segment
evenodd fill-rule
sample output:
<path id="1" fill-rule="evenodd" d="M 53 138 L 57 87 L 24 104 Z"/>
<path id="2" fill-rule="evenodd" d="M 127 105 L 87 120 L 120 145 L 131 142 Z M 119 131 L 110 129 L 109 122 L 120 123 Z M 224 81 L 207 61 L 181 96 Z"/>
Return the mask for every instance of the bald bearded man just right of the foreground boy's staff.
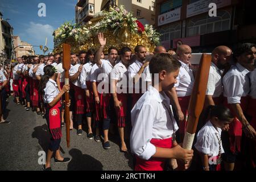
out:
<path id="1" fill-rule="evenodd" d="M 231 55 L 232 50 L 226 46 L 218 46 L 212 52 L 205 108 L 208 105 L 222 104 L 222 69 L 229 66 Z"/>

